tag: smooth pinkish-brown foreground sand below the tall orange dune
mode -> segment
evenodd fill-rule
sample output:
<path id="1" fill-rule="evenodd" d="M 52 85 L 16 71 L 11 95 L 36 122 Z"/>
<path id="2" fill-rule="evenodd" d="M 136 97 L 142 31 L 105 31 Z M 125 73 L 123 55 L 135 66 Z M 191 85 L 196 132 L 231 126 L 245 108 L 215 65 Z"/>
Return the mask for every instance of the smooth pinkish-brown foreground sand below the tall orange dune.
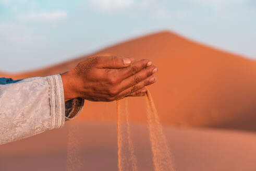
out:
<path id="1" fill-rule="evenodd" d="M 66 170 L 70 124 L 81 130 L 75 136 L 79 137 L 77 157 L 83 170 L 117 170 L 116 123 L 84 121 L 69 121 L 63 129 L 1 145 L 0 170 Z M 131 128 L 138 169 L 153 171 L 147 127 L 132 125 Z M 165 127 L 164 131 L 178 171 L 254 171 L 256 168 L 256 136 L 252 133 L 172 127 Z"/>

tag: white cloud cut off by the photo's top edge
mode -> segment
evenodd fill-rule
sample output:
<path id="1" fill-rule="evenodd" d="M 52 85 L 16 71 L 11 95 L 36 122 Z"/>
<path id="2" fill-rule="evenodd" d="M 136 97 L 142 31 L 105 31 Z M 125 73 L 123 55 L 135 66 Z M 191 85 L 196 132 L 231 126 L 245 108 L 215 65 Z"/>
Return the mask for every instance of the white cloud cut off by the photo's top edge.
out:
<path id="1" fill-rule="evenodd" d="M 113 10 L 121 10 L 133 5 L 133 0 L 90 0 L 91 5 L 96 10 L 111 12 Z"/>

